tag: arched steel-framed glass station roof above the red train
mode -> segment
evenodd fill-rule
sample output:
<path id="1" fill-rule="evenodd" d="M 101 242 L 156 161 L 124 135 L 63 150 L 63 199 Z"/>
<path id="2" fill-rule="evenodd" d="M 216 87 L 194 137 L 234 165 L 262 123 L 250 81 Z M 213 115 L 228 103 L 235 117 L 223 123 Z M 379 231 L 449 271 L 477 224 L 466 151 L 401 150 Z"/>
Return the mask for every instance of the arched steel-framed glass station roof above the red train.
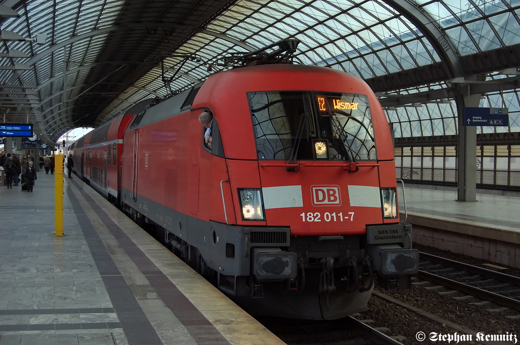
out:
<path id="1" fill-rule="evenodd" d="M 207 18 L 196 12 L 202 9 L 191 9 L 184 21 L 169 17 L 171 2 L 145 3 L 35 0 L 12 7 L 20 17 L 5 19 L 3 31 L 48 35 L 44 45 L 3 41 L 3 51 L 16 49 L 29 58 L 0 57 L 0 65 L 25 63 L 32 70 L 0 70 L 0 84 L 35 86 L 9 89 L 11 98 L 15 91 L 25 93 L 37 105 L 19 104 L 12 114 L 34 116 L 56 140 L 67 129 L 86 126 L 86 120 L 99 126 L 142 99 L 167 96 L 159 53 L 175 54 L 165 60 L 166 77 L 175 74 L 171 88 L 180 91 L 225 68 L 218 59 L 226 54 L 294 37 L 301 40 L 295 56 L 302 63 L 367 80 L 397 137 L 453 135 L 457 104 L 452 93 L 442 95 L 453 87 L 448 79 L 481 74 L 496 84 L 516 76 L 500 74 L 502 69 L 520 65 L 510 58 L 516 50 L 502 51 L 520 45 L 520 0 L 240 0 L 207 9 Z M 132 31 L 124 31 L 128 28 Z M 168 45 L 172 37 L 179 43 Z M 184 62 L 185 54 L 200 60 Z M 425 98 L 432 90 L 438 96 Z M 481 106 L 510 108 L 510 126 L 479 132 L 520 131 L 516 88 L 483 94 Z M 84 110 L 88 105 L 92 111 Z"/>

